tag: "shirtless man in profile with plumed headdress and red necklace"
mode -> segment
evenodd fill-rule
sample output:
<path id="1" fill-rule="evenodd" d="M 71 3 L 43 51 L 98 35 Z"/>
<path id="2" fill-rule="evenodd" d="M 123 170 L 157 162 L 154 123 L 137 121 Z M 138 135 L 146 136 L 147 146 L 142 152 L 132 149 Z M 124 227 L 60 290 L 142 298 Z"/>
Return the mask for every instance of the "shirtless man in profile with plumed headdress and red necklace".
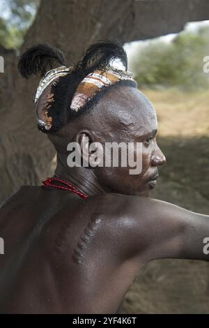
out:
<path id="1" fill-rule="evenodd" d="M 47 72 L 54 61 L 62 66 Z M 62 52 L 37 45 L 19 70 L 42 73 L 38 128 L 54 144 L 57 167 L 43 186 L 23 186 L 1 207 L 1 313 L 114 313 L 150 260 L 208 260 L 208 216 L 149 197 L 165 157 L 155 110 L 127 72 L 123 47 L 96 43 L 67 68 Z M 69 159 L 72 142 L 81 165 Z M 141 171 L 130 174 L 122 158 L 104 165 L 107 152 L 98 150 L 108 142 L 134 144 L 127 151 Z M 84 165 L 90 158 L 94 165 Z"/>

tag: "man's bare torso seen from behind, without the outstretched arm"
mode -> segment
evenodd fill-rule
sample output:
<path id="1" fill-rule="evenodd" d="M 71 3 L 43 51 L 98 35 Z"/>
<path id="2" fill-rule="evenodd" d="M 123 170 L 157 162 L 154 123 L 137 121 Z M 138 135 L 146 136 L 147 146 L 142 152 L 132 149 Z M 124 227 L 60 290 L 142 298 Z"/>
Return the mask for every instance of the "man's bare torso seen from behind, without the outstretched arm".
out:
<path id="1" fill-rule="evenodd" d="M 100 196 L 22 187 L 1 208 L 0 312 L 116 312 L 140 264 L 121 259 L 110 213 Z"/>

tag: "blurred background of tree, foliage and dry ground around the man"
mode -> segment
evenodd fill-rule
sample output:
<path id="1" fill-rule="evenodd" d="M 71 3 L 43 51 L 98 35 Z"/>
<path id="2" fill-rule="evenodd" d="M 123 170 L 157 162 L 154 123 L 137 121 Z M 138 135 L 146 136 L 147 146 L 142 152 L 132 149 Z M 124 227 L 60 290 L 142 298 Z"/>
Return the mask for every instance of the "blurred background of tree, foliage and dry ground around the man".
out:
<path id="1" fill-rule="evenodd" d="M 22 184 L 40 184 L 56 164 L 36 129 L 38 79 L 17 73 L 36 43 L 65 52 L 69 66 L 100 38 L 123 43 L 129 70 L 153 103 L 167 156 L 153 197 L 209 213 L 209 3 L 207 0 L 0 0 L 0 202 Z M 156 260 L 137 277 L 124 313 L 209 313 L 209 264 Z"/>

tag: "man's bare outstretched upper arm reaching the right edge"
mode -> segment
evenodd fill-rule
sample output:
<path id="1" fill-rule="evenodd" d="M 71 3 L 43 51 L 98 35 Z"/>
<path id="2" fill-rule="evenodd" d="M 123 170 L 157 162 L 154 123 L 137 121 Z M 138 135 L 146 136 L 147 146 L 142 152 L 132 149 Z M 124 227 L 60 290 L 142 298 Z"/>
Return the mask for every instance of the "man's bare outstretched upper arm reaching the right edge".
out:
<path id="1" fill-rule="evenodd" d="M 203 241 L 209 237 L 208 215 L 148 197 L 125 196 L 124 204 L 124 239 L 133 255 L 138 252 L 144 262 L 157 258 L 209 260 L 203 253 Z"/>

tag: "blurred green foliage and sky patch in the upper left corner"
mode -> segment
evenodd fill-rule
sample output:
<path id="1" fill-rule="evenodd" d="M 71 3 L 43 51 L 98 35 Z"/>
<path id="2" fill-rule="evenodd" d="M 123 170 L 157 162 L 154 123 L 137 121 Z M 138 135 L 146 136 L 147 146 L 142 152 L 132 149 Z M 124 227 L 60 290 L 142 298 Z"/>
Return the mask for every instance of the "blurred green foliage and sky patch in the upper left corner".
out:
<path id="1" fill-rule="evenodd" d="M 18 49 L 36 15 L 40 0 L 1 1 L 8 15 L 0 15 L 0 44 L 7 49 Z"/>

